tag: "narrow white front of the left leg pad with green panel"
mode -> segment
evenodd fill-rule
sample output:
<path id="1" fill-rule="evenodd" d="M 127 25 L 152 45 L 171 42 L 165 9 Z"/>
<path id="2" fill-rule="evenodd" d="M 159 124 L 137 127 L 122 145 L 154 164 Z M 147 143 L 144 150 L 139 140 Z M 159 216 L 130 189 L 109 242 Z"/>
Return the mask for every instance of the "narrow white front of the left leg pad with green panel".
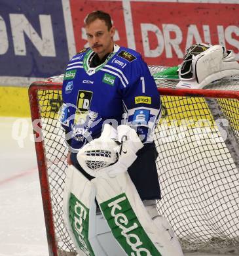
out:
<path id="1" fill-rule="evenodd" d="M 106 255 L 96 236 L 96 189 L 73 165 L 66 171 L 64 219 L 79 255 Z"/>

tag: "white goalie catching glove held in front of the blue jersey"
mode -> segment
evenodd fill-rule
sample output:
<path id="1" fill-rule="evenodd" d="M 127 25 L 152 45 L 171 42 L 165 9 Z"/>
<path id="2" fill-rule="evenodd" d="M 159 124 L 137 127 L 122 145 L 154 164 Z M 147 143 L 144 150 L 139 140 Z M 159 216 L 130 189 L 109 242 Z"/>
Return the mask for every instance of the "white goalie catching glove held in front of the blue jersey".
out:
<path id="1" fill-rule="evenodd" d="M 115 175 L 127 171 L 136 160 L 136 152 L 143 147 L 136 131 L 119 125 L 117 131 L 105 124 L 100 138 L 94 139 L 77 154 L 84 171 L 93 177 Z"/>

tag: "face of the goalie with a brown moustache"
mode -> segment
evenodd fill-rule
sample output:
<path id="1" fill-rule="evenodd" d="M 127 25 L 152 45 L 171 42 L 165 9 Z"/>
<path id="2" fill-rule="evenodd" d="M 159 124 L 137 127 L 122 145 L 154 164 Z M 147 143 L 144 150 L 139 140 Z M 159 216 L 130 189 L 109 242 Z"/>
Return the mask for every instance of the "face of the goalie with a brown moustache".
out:
<path id="1" fill-rule="evenodd" d="M 86 26 L 86 35 L 90 48 L 103 57 L 105 54 L 113 50 L 113 36 L 115 34 L 115 27 L 112 26 L 108 30 L 104 20 L 94 20 Z"/>

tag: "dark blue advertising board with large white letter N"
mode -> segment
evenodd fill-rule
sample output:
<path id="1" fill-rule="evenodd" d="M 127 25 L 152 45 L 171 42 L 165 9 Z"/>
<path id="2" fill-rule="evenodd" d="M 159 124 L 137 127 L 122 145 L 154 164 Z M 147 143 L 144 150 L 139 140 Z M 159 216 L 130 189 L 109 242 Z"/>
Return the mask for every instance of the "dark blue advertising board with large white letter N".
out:
<path id="1" fill-rule="evenodd" d="M 62 1 L 1 0 L 0 77 L 50 77 L 69 60 Z"/>

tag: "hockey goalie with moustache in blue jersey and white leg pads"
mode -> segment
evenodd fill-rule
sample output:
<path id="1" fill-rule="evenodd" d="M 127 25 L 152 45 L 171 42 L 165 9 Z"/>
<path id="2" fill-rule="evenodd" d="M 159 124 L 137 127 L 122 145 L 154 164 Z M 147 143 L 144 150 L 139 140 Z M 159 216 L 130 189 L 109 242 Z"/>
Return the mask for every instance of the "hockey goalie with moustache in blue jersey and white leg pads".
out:
<path id="1" fill-rule="evenodd" d="M 155 80 L 140 53 L 114 42 L 109 14 L 94 11 L 84 22 L 90 47 L 71 58 L 62 85 L 71 238 L 79 255 L 180 256 L 155 203 L 161 196 Z"/>

